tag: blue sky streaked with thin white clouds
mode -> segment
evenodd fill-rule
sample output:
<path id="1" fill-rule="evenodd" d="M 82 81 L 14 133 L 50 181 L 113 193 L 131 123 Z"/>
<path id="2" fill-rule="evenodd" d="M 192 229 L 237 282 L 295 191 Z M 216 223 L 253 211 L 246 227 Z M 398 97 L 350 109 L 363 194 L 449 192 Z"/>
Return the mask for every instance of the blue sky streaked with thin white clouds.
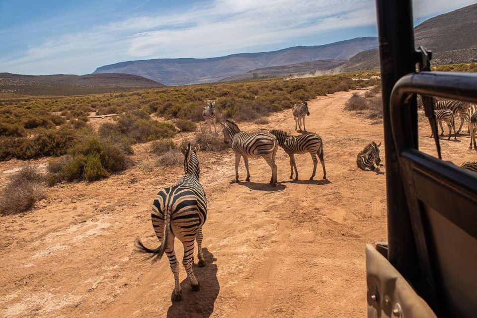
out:
<path id="1" fill-rule="evenodd" d="M 414 0 L 418 24 L 474 3 Z M 374 0 L 0 0 L 0 72 L 88 74 L 376 36 Z"/>

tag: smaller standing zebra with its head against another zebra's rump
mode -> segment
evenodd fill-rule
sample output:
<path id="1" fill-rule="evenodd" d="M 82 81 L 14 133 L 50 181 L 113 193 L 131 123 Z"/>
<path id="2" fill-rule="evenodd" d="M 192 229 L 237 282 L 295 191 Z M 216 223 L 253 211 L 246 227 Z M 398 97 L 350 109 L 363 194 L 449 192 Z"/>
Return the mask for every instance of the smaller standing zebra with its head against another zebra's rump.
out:
<path id="1" fill-rule="evenodd" d="M 298 169 L 297 163 L 295 162 L 295 154 L 305 154 L 310 153 L 313 159 L 313 174 L 310 177 L 310 180 L 313 180 L 317 172 L 317 155 L 321 166 L 323 167 L 323 179 L 326 179 L 326 168 L 324 167 L 323 159 L 323 141 L 315 133 L 308 133 L 300 136 L 292 136 L 289 133 L 283 130 L 271 130 L 270 133 L 277 138 L 278 145 L 283 148 L 283 150 L 290 157 L 290 168 L 292 170 L 290 174 L 290 179 L 293 179 L 293 168 L 295 168 L 295 180 L 298 180 Z"/>

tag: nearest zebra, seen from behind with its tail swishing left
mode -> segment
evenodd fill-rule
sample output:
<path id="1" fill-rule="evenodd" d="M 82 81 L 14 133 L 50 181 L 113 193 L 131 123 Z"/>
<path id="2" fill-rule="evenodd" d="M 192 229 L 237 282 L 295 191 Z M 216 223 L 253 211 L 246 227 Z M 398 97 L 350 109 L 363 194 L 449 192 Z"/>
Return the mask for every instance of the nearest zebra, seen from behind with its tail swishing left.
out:
<path id="1" fill-rule="evenodd" d="M 150 249 L 138 239 L 137 247 L 146 253 L 153 253 L 155 261 L 166 253 L 169 265 L 174 274 L 175 287 L 171 300 L 182 299 L 182 291 L 179 284 L 179 263 L 174 252 L 174 238 L 179 239 L 184 245 L 184 265 L 189 283 L 193 291 L 200 290 L 200 284 L 192 271 L 194 258 L 194 240 L 197 240 L 198 265 L 205 266 L 202 254 L 202 226 L 207 218 L 207 198 L 204 189 L 199 182 L 199 160 L 197 152 L 199 145 L 191 149 L 181 148 L 184 154 L 184 176 L 171 187 L 167 187 L 156 195 L 153 202 L 151 219 L 156 236 L 161 241 L 158 248 Z"/>

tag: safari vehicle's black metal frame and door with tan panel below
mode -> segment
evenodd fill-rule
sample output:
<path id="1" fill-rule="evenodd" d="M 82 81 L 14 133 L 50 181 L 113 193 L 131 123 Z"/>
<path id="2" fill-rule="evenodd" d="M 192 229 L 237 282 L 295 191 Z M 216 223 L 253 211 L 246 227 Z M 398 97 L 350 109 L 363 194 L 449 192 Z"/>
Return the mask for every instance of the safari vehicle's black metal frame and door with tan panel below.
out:
<path id="1" fill-rule="evenodd" d="M 366 246 L 368 317 L 477 317 L 477 175 L 440 159 L 431 99 L 477 103 L 477 76 L 430 71 L 411 0 L 376 5 L 388 242 Z M 416 94 L 439 158 L 419 151 Z"/>

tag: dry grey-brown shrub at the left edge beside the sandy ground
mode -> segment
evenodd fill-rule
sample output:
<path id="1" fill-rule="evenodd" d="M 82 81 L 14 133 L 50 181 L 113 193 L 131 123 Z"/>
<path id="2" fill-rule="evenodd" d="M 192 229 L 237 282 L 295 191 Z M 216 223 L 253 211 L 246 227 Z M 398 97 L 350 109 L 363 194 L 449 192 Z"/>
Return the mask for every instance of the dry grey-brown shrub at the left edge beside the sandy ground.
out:
<path id="1" fill-rule="evenodd" d="M 45 197 L 44 177 L 33 165 L 22 167 L 10 177 L 0 196 L 3 215 L 30 210 L 35 202 Z"/>

